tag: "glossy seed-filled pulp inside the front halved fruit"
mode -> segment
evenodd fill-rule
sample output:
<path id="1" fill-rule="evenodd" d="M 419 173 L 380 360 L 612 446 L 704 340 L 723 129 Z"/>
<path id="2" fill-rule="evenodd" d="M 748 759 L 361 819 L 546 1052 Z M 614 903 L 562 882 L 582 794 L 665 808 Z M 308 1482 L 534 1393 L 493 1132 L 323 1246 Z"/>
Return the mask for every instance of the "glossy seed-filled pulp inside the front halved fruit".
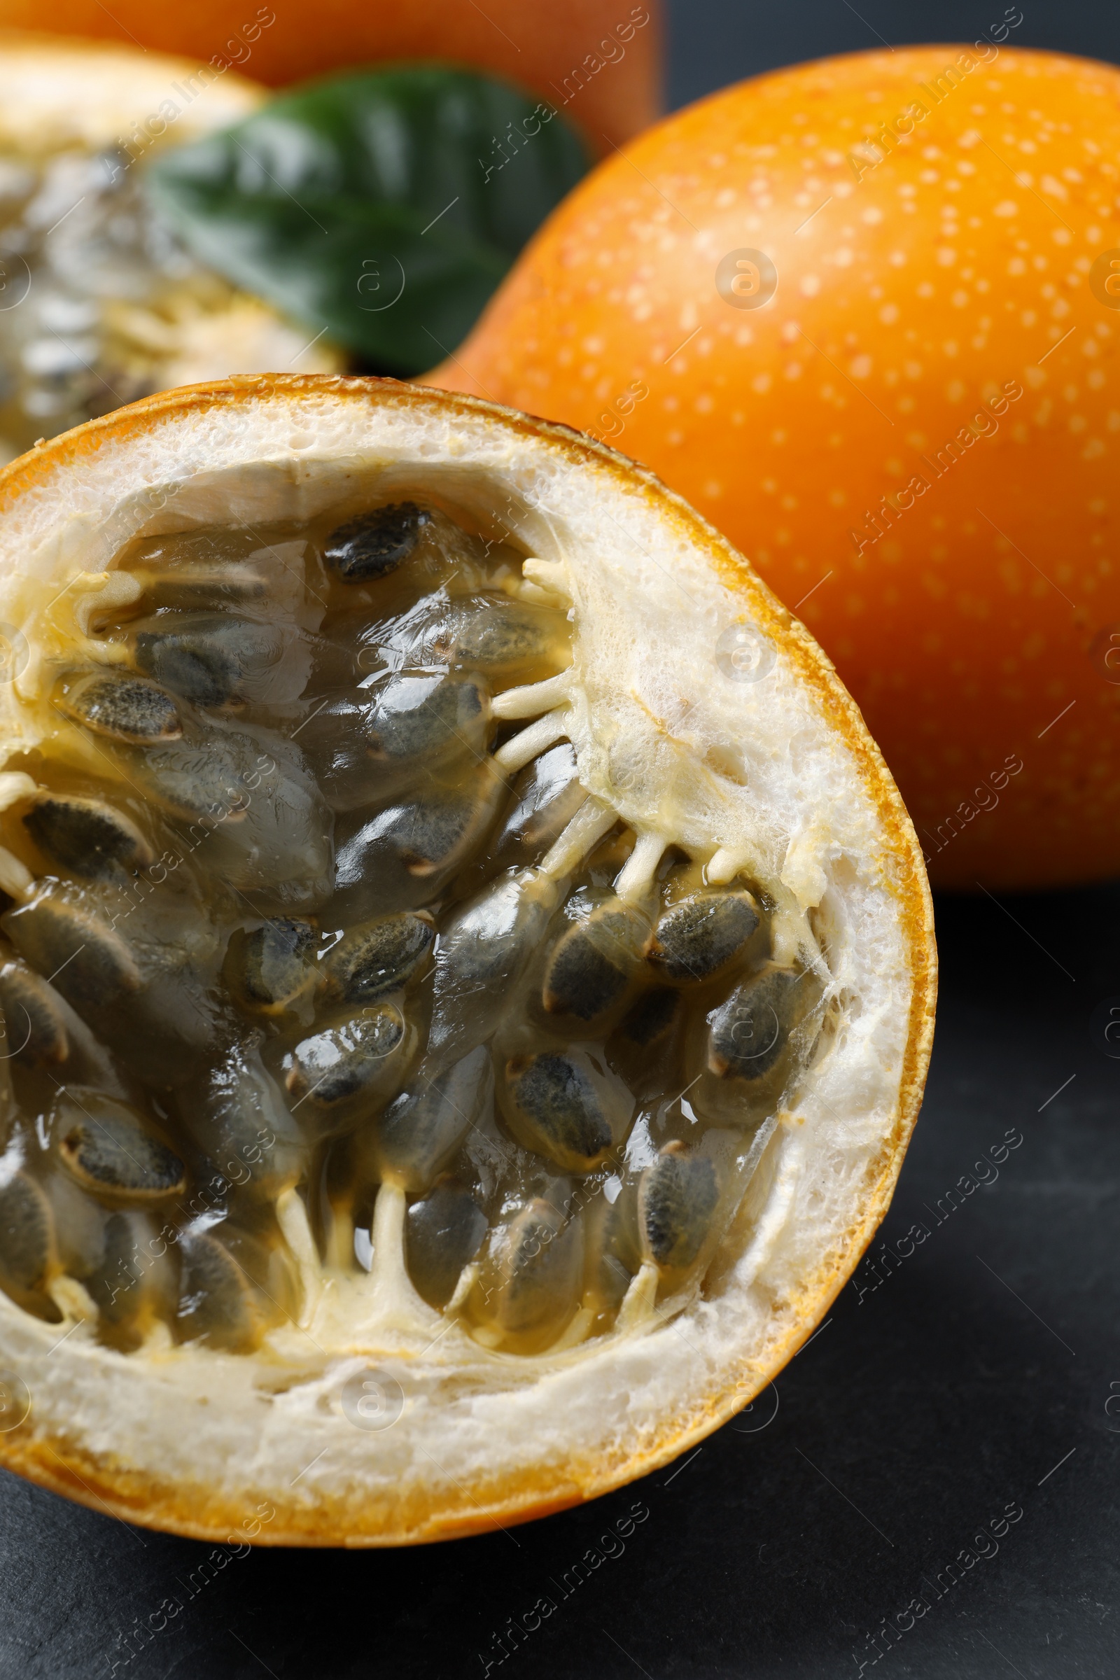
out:
<path id="1" fill-rule="evenodd" d="M 522 561 L 401 492 L 149 538 L 40 650 L 0 813 L 29 1312 L 249 1351 L 309 1268 L 376 1272 L 379 1198 L 484 1347 L 702 1280 L 819 991 L 759 884 L 626 869 L 564 732 L 569 600 Z"/>

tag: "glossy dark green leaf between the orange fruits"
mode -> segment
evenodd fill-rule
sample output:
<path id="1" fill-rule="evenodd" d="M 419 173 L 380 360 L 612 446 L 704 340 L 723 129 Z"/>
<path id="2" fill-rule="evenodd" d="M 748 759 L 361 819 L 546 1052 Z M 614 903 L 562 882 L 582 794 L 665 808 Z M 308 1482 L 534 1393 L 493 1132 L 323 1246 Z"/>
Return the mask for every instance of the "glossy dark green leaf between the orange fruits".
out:
<path id="1" fill-rule="evenodd" d="M 395 66 L 314 82 L 148 171 L 200 260 L 410 376 L 467 336 L 589 168 L 579 133 L 507 82 Z"/>

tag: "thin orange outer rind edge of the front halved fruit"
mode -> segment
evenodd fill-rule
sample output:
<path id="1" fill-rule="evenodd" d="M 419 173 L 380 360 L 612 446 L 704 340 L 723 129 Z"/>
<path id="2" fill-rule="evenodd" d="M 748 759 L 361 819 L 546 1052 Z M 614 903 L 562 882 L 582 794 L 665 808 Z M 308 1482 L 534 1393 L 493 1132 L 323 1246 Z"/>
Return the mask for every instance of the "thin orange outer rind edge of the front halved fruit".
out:
<path id="1" fill-rule="evenodd" d="M 626 492 L 638 489 L 643 506 L 655 507 L 660 519 L 668 519 L 675 522 L 678 531 L 683 531 L 690 548 L 699 549 L 729 591 L 742 600 L 752 623 L 774 638 L 782 655 L 796 665 L 799 682 L 808 682 L 814 690 L 816 704 L 830 729 L 830 738 L 841 736 L 846 751 L 853 756 L 863 791 L 870 798 L 878 818 L 875 838 L 880 852 L 885 853 L 880 885 L 895 900 L 895 906 L 902 909 L 902 937 L 908 948 L 905 968 L 912 983 L 905 1062 L 898 1074 L 893 1127 L 890 1137 L 882 1141 L 878 1154 L 866 1164 L 865 1194 L 858 1198 L 861 1218 L 856 1220 L 855 1226 L 848 1228 L 845 1233 L 846 1242 L 838 1253 L 818 1257 L 809 1280 L 801 1280 L 796 1292 L 779 1297 L 779 1300 L 784 1300 L 784 1305 L 776 1305 L 774 1310 L 782 1317 L 791 1315 L 791 1322 L 782 1329 L 774 1346 L 767 1346 L 761 1362 L 747 1362 L 741 1368 L 739 1374 L 734 1369 L 729 1371 L 725 1366 L 720 1368 L 719 1381 L 712 1386 L 712 1393 L 705 1394 L 704 1403 L 693 1403 L 682 1415 L 672 1413 L 668 1420 L 662 1420 L 662 1428 L 655 1438 L 643 1443 L 638 1450 L 618 1450 L 613 1455 L 598 1452 L 583 1465 L 579 1455 L 573 1453 L 563 1465 L 534 1463 L 527 1472 L 510 1472 L 479 1480 L 468 1492 L 467 1504 L 463 1504 L 462 1497 L 458 1500 L 452 1497 L 450 1505 L 457 1507 L 453 1510 L 448 1509 L 447 1497 L 443 1500 L 428 1499 L 427 1504 L 423 1497 L 416 1499 L 415 1495 L 408 1500 L 396 1499 L 391 1502 L 393 1515 L 386 1514 L 388 1520 L 381 1522 L 379 1527 L 376 1520 L 373 1525 L 363 1524 L 351 1502 L 319 1494 L 312 1504 L 292 1502 L 287 1507 L 287 1520 L 282 1519 L 277 1527 L 269 1525 L 267 1530 L 262 1525 L 259 1534 L 250 1536 L 270 1544 L 401 1544 L 477 1532 L 479 1529 L 502 1525 L 504 1522 L 529 1520 L 546 1510 L 563 1509 L 564 1505 L 589 1499 L 608 1487 L 616 1487 L 621 1482 L 646 1473 L 678 1452 L 683 1452 L 688 1445 L 717 1428 L 719 1423 L 725 1421 L 735 1410 L 749 1403 L 766 1386 L 771 1376 L 781 1369 L 786 1359 L 811 1334 L 835 1294 L 843 1287 L 888 1205 L 890 1189 L 893 1188 L 902 1152 L 917 1114 L 929 1057 L 935 953 L 932 946 L 929 887 L 908 818 L 878 751 L 870 738 L 866 738 L 855 704 L 840 687 L 831 665 L 811 642 L 808 632 L 779 606 L 729 544 L 688 509 L 687 504 L 672 496 L 672 492 L 667 492 L 652 474 L 615 455 L 606 447 L 569 432 L 566 427 L 536 422 L 509 410 L 495 410 L 492 405 L 479 400 L 450 396 L 432 390 L 420 391 L 396 385 L 395 381 L 309 380 L 301 376 L 228 380 L 175 393 L 173 396 L 149 398 L 131 410 L 91 422 L 54 444 L 44 445 L 0 475 L 0 504 L 12 506 L 17 497 L 27 497 L 29 501 L 24 506 L 34 506 L 55 470 L 92 462 L 106 445 L 128 445 L 138 433 L 143 435 L 158 425 L 161 415 L 183 420 L 188 415 L 200 415 L 232 402 L 237 403 L 252 398 L 265 402 L 279 398 L 280 402 L 297 405 L 302 398 L 312 398 L 314 408 L 314 398 L 327 395 L 346 402 L 373 403 L 373 407 L 379 403 L 390 408 L 420 402 L 423 408 L 440 415 L 445 425 L 453 427 L 460 420 L 467 425 L 467 430 L 479 415 L 499 417 L 502 427 L 510 428 L 522 442 L 544 442 L 559 452 L 569 465 L 583 464 L 606 469 L 618 489 L 625 489 Z M 573 455 L 576 460 L 571 459 Z M 420 475 L 423 472 L 423 460 L 418 460 L 415 465 Z M 554 563 L 537 561 L 536 566 L 536 581 L 549 586 L 552 593 L 559 593 L 559 578 Z M 552 717 L 556 707 L 569 697 L 561 679 L 552 679 L 551 684 L 551 687 L 546 685 L 546 692 L 537 696 L 522 692 L 517 697 L 517 690 L 507 690 L 502 696 L 507 716 L 524 716 L 527 719 L 527 734 L 537 731 L 537 738 L 542 738 L 544 731 L 541 724 Z M 522 706 L 526 709 L 519 711 Z M 542 711 L 542 716 L 537 716 L 539 711 Z M 532 721 L 534 717 L 537 721 Z M 549 727 L 554 726 L 556 721 Z M 611 822 L 615 820 L 611 806 L 603 805 L 601 810 L 603 816 L 610 815 Z M 588 827 L 586 822 L 584 827 Z M 641 877 L 657 865 L 660 847 L 672 838 L 672 835 L 658 835 L 653 828 L 646 828 L 645 833 L 638 830 L 638 835 L 640 843 L 635 848 L 631 864 L 626 865 L 623 877 L 620 877 L 628 887 L 638 887 Z M 734 874 L 734 857 L 725 862 Z M 788 1117 L 788 1121 L 793 1122 L 793 1117 Z M 385 1191 L 378 1198 L 374 1221 L 381 1218 L 386 1235 L 393 1213 L 403 1213 L 403 1196 L 400 1201 L 401 1206 L 396 1208 L 393 1198 L 386 1201 Z M 741 1263 L 742 1253 L 725 1270 L 734 1273 Z M 395 1267 L 396 1262 L 393 1260 L 390 1268 Z M 356 1282 L 361 1287 L 361 1280 Z M 408 1290 L 411 1292 L 411 1285 L 408 1285 Z M 395 1294 L 400 1292 L 395 1290 Z M 415 1297 L 415 1292 L 411 1294 Z M 418 1302 L 418 1297 L 415 1300 L 421 1314 L 437 1324 L 440 1322 L 440 1315 L 433 1309 Z M 0 1324 L 8 1317 L 8 1312 L 18 1314 L 18 1309 L 3 1302 L 0 1305 Z M 27 1320 L 22 1314 L 18 1317 L 25 1327 Z M 55 1327 L 49 1329 L 55 1331 Z M 569 1354 L 557 1352 L 549 1356 L 546 1352 L 527 1361 L 524 1356 L 517 1357 L 526 1376 L 534 1381 L 542 1368 L 554 1371 L 557 1362 L 564 1366 L 579 1362 L 583 1371 L 589 1373 L 596 1361 L 601 1362 L 603 1359 L 615 1357 L 620 1336 L 621 1339 L 630 1339 L 623 1331 L 599 1342 L 586 1344 L 584 1349 L 571 1349 Z M 72 1352 L 79 1354 L 81 1351 L 74 1349 Z M 482 1349 L 475 1346 L 472 1354 L 482 1356 Z M 102 1357 L 119 1361 L 124 1356 L 109 1356 L 104 1349 L 97 1349 L 96 1362 L 99 1364 Z M 170 1357 L 168 1374 L 173 1373 L 183 1357 L 181 1352 Z M 203 1362 L 228 1357 L 201 1354 Z M 509 1356 L 490 1356 L 490 1359 L 495 1357 L 499 1361 L 509 1359 Z M 128 1356 L 128 1362 L 134 1359 L 136 1356 Z M 34 1425 L 34 1415 L 29 1423 Z M 217 1495 L 213 1488 L 200 1488 L 188 1497 L 183 1483 L 166 1487 L 158 1478 L 121 1467 L 119 1460 L 114 1463 L 111 1453 L 99 1458 L 81 1445 L 81 1441 L 67 1440 L 65 1431 L 59 1431 L 55 1436 L 55 1446 L 60 1446 L 62 1452 L 57 1452 L 49 1440 L 29 1440 L 27 1433 L 25 1428 L 20 1428 L 10 1436 L 0 1438 L 0 1457 L 12 1468 L 20 1468 L 34 1480 L 52 1485 L 72 1497 L 84 1499 L 87 1504 L 109 1505 L 116 1514 L 128 1515 L 129 1520 L 149 1522 L 156 1527 L 170 1527 L 176 1532 L 198 1534 L 200 1537 L 215 1537 L 220 1530 L 235 1525 L 235 1520 L 240 1522 L 243 1519 L 243 1502 L 232 1504 L 228 1509 L 222 1509 L 218 1502 L 218 1509 L 215 1510 Z M 76 1477 L 77 1483 L 74 1482 Z M 492 1487 L 492 1494 L 487 1492 L 487 1487 Z M 269 1499 L 272 1499 L 272 1494 Z M 363 1505 L 369 1505 L 368 1495 L 364 1495 Z M 200 1507 L 207 1512 L 205 1517 L 198 1517 Z"/>

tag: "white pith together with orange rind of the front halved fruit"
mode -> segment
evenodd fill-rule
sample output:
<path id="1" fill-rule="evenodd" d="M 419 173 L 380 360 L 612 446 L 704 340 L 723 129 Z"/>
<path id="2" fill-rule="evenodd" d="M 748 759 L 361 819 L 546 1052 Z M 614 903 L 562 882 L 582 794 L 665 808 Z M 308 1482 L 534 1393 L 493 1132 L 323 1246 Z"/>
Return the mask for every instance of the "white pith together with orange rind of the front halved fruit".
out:
<path id="1" fill-rule="evenodd" d="M 309 438 L 312 450 L 302 449 Z M 556 514 L 546 522 L 531 509 L 541 491 L 559 489 L 557 465 L 571 470 L 563 509 L 549 496 Z M 158 482 L 183 491 L 166 502 L 163 492 L 151 494 L 153 467 Z M 0 1299 L 5 1359 L 34 1388 L 37 1420 L 34 1438 L 3 1436 L 5 1465 L 59 1492 L 104 1500 L 129 1520 L 215 1541 L 240 1530 L 264 1497 L 277 1517 L 260 1537 L 277 1544 L 443 1539 L 596 1497 L 695 1446 L 779 1373 L 851 1272 L 890 1201 L 929 1055 L 934 946 L 920 857 L 855 706 L 801 627 L 714 529 L 652 477 L 563 428 L 386 381 L 230 380 L 153 398 L 47 444 L 3 475 L 12 509 L 0 528 L 8 544 L 7 618 L 29 640 L 15 697 L 45 704 L 49 670 L 37 652 L 65 652 L 74 630 L 84 638 L 111 617 L 111 603 L 131 600 L 129 580 L 118 571 L 76 571 L 106 564 L 124 536 L 212 524 L 227 506 L 260 526 L 336 501 L 343 516 L 359 487 L 371 501 L 383 491 L 388 499 L 401 494 L 405 475 L 448 497 L 474 492 L 479 519 L 509 521 L 505 531 L 517 533 L 522 551 L 544 556 L 526 559 L 524 573 L 574 610 L 569 672 L 552 679 L 546 696 L 534 690 L 534 706 L 524 689 L 495 702 L 521 719 L 549 709 L 507 743 L 516 773 L 532 751 L 559 739 L 556 709 L 571 696 L 561 709 L 591 785 L 591 811 L 579 813 L 583 850 L 576 853 L 571 837 L 561 848 L 568 864 L 606 833 L 599 823 L 615 811 L 638 833 L 623 869 L 628 884 L 652 877 L 673 847 L 710 858 L 720 879 L 749 860 L 759 884 L 781 889 L 788 875 L 789 897 L 772 916 L 767 907 L 771 937 L 782 961 L 799 953 L 816 966 L 818 949 L 828 951 L 828 1047 L 789 1094 L 789 1112 L 764 1144 L 700 1297 L 658 1300 L 636 1326 L 635 1302 L 625 1302 L 638 1334 L 593 1337 L 539 1359 L 489 1352 L 411 1292 L 400 1240 L 398 1270 L 385 1275 L 388 1238 L 406 1225 L 405 1193 L 388 1183 L 376 1191 L 374 1240 L 364 1245 L 368 1258 L 373 1247 L 373 1272 L 336 1275 L 327 1267 L 316 1292 L 309 1267 L 311 1305 L 301 1307 L 297 1326 L 270 1331 L 259 1357 L 186 1342 L 171 1356 L 154 1349 L 121 1359 L 97 1344 L 91 1324 L 77 1324 L 82 1314 L 59 1329 Z M 42 539 L 72 529 L 67 511 L 77 484 L 96 492 L 96 541 L 82 544 L 74 564 L 65 553 L 44 551 Z M 519 497 L 529 497 L 529 507 Z M 662 570 L 663 539 L 677 556 L 672 576 Z M 680 608 L 677 578 L 685 576 L 699 610 Z M 751 623 L 772 648 L 777 680 L 756 690 L 754 706 L 714 664 L 712 628 L 729 618 Z M 635 633 L 641 620 L 645 633 Z M 680 699 L 663 696 L 662 674 L 673 689 L 680 684 Z M 675 746 L 663 726 L 672 729 L 690 702 L 687 739 Z M 613 719 L 623 726 L 613 734 L 626 744 L 623 763 L 613 753 L 599 758 Z M 42 727 L 22 707 L 12 707 L 12 722 L 25 746 Z M 640 781 L 636 743 L 655 751 Z M 734 743 L 741 780 L 729 780 Z M 8 738 L 7 753 L 13 746 Z M 709 746 L 712 776 L 700 764 Z M 3 790 L 12 791 L 10 781 Z M 759 828 L 774 837 L 772 848 L 752 845 Z M 788 833 L 799 838 L 782 869 Z M 27 882 L 17 862 L 0 857 L 0 882 L 20 895 Z M 240 1173 L 235 1163 L 232 1173 Z M 280 1194 L 277 1218 L 301 1253 L 290 1211 Z M 618 1235 L 633 1236 L 628 1216 Z M 594 1268 L 604 1282 L 615 1275 L 606 1258 Z M 777 1315 L 776 1299 L 784 1302 Z M 680 1320 L 665 1322 L 673 1312 Z M 55 1349 L 71 1324 L 76 1334 Z M 564 1336 L 569 1331 L 579 1334 L 578 1319 Z M 354 1351 L 388 1361 L 406 1389 L 396 1426 L 376 1443 L 354 1430 L 353 1404 L 346 1410 Z M 485 1443 L 474 1428 L 479 1384 L 494 1406 Z M 287 1398 L 279 1399 L 280 1389 Z M 208 1408 L 195 1410 L 191 1394 L 210 1396 Z M 331 1450 L 306 1468 L 322 1446 Z"/>

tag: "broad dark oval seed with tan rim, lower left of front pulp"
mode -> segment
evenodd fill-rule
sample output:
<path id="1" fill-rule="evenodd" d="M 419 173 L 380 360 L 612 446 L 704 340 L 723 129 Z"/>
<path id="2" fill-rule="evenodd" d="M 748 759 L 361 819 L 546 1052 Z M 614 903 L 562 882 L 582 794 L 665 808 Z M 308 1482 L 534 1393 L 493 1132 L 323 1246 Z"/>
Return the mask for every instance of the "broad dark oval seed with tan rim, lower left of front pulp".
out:
<path id="1" fill-rule="evenodd" d="M 82 1189 L 129 1203 L 180 1196 L 186 1174 L 180 1158 L 146 1131 L 141 1117 L 113 1097 L 67 1087 L 50 1129 L 59 1156 Z"/>

